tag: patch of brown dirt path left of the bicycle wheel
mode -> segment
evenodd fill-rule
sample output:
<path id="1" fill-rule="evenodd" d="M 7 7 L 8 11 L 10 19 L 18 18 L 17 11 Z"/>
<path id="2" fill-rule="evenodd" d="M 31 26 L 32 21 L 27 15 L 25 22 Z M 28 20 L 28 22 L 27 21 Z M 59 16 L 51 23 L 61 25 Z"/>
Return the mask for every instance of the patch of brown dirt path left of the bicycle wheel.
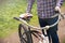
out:
<path id="1" fill-rule="evenodd" d="M 15 32 L 11 34 L 9 38 L 4 39 L 4 43 L 20 43 L 18 33 Z"/>

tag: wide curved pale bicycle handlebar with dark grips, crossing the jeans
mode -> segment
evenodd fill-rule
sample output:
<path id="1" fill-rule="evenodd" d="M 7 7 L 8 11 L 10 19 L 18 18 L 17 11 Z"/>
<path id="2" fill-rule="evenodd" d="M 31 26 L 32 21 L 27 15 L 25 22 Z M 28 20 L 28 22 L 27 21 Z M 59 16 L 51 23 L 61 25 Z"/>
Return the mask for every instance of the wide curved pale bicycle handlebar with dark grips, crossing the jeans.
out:
<path id="1" fill-rule="evenodd" d="M 64 15 L 65 15 L 65 14 L 64 14 Z M 31 26 L 31 25 L 29 25 L 26 20 L 24 20 L 24 19 L 22 19 L 22 18 L 20 18 L 20 17 L 14 17 L 14 19 L 21 20 L 23 24 L 27 25 L 27 26 L 30 27 L 30 28 L 34 28 L 35 30 L 42 30 L 42 29 L 48 30 L 49 28 L 54 27 L 56 24 L 58 24 L 58 22 L 61 20 L 61 16 L 62 16 L 63 18 L 65 18 L 64 15 L 62 15 L 62 14 L 56 14 L 56 15 L 52 16 L 52 17 L 58 16 L 58 19 L 57 19 L 53 25 L 46 26 L 46 27 L 41 27 L 41 28 L 40 28 L 40 27 Z"/>

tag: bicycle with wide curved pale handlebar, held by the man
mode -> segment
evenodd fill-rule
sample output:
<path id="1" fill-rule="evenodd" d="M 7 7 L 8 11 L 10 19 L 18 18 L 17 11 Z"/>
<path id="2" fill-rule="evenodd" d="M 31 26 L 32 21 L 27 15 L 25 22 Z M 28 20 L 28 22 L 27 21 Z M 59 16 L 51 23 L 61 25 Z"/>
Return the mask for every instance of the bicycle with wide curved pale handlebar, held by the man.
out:
<path id="1" fill-rule="evenodd" d="M 29 25 L 28 19 L 24 20 L 22 18 L 14 17 L 15 19 L 21 20 L 23 23 L 23 24 L 18 25 L 18 35 L 20 35 L 21 43 L 34 43 L 32 35 L 35 35 L 39 40 L 39 43 L 49 43 L 47 30 L 49 28 L 55 26 L 56 24 L 58 24 L 58 22 L 61 20 L 61 18 L 60 18 L 61 16 L 62 16 L 62 18 L 65 18 L 64 15 L 62 15 L 62 14 L 56 14 L 55 16 L 52 16 L 52 17 L 56 17 L 56 16 L 58 16 L 57 22 L 55 22 L 51 26 L 46 26 L 42 28 L 38 28 L 38 27 L 34 27 L 34 26 Z M 30 30 L 30 28 L 34 28 L 34 29 Z M 42 29 L 44 30 L 44 34 L 37 31 L 37 30 L 42 30 Z"/>

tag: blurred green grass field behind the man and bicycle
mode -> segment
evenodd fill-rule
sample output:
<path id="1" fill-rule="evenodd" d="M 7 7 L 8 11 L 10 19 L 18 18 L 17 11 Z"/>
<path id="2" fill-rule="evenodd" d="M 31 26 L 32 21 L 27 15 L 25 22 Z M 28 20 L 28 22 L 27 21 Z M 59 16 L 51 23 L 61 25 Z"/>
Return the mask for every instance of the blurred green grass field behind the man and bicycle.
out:
<path id="1" fill-rule="evenodd" d="M 5 2 L 0 4 L 0 38 L 5 38 L 11 33 L 17 31 L 17 26 L 20 22 L 13 19 L 13 17 L 18 17 L 20 14 L 25 13 L 26 6 L 26 0 L 6 0 Z M 35 16 L 31 18 L 30 24 L 37 26 L 38 23 L 36 22 L 38 19 L 35 6 L 36 4 L 32 6 L 31 10 Z M 65 6 L 65 4 L 63 6 Z"/>

